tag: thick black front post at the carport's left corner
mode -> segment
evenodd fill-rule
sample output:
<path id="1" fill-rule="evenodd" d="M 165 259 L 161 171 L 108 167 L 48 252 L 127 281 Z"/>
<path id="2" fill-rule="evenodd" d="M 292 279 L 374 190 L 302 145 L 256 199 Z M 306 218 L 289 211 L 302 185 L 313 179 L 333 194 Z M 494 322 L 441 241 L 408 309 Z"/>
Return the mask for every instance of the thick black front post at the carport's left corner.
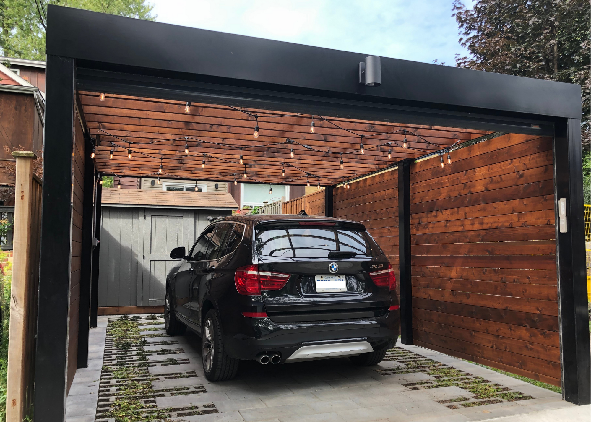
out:
<path id="1" fill-rule="evenodd" d="M 35 421 L 64 419 L 72 256 L 74 59 L 47 56 Z"/>

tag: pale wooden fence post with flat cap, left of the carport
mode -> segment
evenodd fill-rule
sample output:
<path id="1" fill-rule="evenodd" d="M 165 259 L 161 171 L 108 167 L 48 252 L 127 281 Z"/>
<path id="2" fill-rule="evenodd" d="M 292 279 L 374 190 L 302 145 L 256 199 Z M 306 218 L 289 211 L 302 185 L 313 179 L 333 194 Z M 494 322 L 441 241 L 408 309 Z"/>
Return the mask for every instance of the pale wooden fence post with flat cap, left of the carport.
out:
<path id="1" fill-rule="evenodd" d="M 31 415 L 41 237 L 41 181 L 33 152 L 15 151 L 14 245 L 8 348 L 7 422 Z"/>

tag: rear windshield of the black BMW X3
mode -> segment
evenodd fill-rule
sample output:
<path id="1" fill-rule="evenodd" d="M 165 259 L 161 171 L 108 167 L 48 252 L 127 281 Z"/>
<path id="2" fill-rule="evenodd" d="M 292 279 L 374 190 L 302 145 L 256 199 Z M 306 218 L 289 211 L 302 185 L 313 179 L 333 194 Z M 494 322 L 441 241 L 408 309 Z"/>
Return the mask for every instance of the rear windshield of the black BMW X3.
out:
<path id="1" fill-rule="evenodd" d="M 255 247 L 259 255 L 268 257 L 328 258 L 330 251 L 355 252 L 357 257 L 378 255 L 377 246 L 365 231 L 320 226 L 257 230 Z"/>

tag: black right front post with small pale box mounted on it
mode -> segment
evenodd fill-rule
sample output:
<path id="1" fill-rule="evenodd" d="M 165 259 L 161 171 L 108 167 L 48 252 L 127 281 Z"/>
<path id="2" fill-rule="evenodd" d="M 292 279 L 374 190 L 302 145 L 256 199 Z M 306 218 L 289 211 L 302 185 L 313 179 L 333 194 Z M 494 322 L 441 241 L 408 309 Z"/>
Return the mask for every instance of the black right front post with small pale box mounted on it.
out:
<path id="1" fill-rule="evenodd" d="M 566 233 L 560 231 L 561 198 L 566 199 Z M 579 119 L 564 119 L 556 128 L 554 200 L 562 395 L 583 405 L 591 401 L 591 379 Z"/>

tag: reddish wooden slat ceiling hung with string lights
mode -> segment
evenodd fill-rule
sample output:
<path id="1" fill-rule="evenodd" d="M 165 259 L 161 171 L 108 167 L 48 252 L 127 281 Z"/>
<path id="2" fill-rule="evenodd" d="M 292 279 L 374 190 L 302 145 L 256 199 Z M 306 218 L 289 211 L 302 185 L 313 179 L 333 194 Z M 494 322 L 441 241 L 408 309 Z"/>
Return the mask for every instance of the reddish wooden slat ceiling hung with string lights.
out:
<path id="1" fill-rule="evenodd" d="M 79 98 L 90 135 L 100 141 L 96 147 L 96 169 L 103 174 L 128 177 L 158 176 L 162 161 L 161 177 L 166 178 L 232 181 L 236 177 L 242 182 L 273 184 L 306 184 L 307 180 L 317 184 L 320 179 L 320 184 L 326 186 L 490 133 L 329 116 L 314 116 L 315 130 L 311 133 L 309 114 L 285 115 L 201 103 L 192 103 L 190 112 L 185 113 L 185 103 L 173 100 L 107 95 L 105 101 L 100 101 L 95 92 L 79 92 Z M 259 116 L 256 139 L 252 115 Z M 408 131 L 408 148 L 402 148 L 405 135 L 401 129 Z M 385 134 L 393 131 L 399 132 Z M 359 151 L 361 134 L 364 154 Z M 292 145 L 285 143 L 287 138 L 294 141 L 293 158 Z M 186 142 L 189 154 L 184 152 Z M 392 144 L 384 145 L 387 142 Z M 388 158 L 389 148 L 392 158 Z M 339 152 L 344 161 L 342 170 Z M 246 179 L 242 177 L 245 165 L 239 164 L 241 154 Z M 285 177 L 281 176 L 283 168 Z"/>

